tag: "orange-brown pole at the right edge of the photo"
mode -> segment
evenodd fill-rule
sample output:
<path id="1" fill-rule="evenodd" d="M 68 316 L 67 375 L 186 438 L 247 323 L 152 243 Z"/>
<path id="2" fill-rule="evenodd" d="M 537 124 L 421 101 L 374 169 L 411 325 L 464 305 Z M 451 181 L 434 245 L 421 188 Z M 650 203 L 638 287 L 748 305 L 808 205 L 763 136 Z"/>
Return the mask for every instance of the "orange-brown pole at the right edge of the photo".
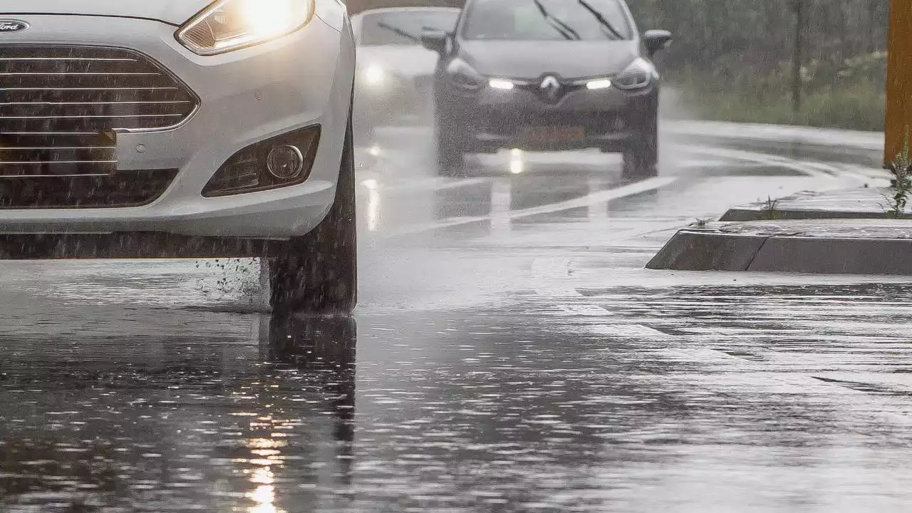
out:
<path id="1" fill-rule="evenodd" d="M 893 0 L 888 52 L 885 162 L 903 151 L 912 126 L 912 0 Z"/>

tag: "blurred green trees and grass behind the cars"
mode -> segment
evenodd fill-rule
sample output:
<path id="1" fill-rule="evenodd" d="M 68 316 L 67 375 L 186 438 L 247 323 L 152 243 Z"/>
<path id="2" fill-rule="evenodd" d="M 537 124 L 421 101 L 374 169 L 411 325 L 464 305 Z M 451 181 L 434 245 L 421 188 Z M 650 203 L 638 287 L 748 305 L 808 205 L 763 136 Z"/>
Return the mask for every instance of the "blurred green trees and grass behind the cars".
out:
<path id="1" fill-rule="evenodd" d="M 675 36 L 659 62 L 679 93 L 682 114 L 883 130 L 890 0 L 627 2 L 641 29 L 665 28 Z M 461 3 L 349 0 L 349 7 Z"/>

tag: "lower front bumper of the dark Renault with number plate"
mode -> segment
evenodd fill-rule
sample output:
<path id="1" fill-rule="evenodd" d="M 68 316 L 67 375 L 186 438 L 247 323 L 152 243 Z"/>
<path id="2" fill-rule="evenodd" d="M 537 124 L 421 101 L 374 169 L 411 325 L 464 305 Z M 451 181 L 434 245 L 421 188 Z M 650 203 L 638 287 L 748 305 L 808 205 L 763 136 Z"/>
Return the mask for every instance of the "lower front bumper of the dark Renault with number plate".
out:
<path id="1" fill-rule="evenodd" d="M 542 99 L 530 88 L 484 88 L 472 94 L 442 89 L 441 128 L 462 131 L 469 152 L 622 152 L 655 123 L 658 111 L 658 84 L 637 91 L 575 89 L 557 101 Z M 549 131 L 553 138 L 530 137 Z"/>

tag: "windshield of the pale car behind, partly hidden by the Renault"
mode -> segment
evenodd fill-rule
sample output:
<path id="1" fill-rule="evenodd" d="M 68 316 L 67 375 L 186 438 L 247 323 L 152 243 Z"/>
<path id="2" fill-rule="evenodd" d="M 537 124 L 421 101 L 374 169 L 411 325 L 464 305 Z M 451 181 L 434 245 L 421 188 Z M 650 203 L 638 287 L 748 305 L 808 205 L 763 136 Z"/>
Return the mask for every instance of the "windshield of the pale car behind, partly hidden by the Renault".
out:
<path id="1" fill-rule="evenodd" d="M 451 31 L 459 11 L 409 11 L 366 15 L 361 25 L 361 45 L 419 45 L 427 29 Z"/>

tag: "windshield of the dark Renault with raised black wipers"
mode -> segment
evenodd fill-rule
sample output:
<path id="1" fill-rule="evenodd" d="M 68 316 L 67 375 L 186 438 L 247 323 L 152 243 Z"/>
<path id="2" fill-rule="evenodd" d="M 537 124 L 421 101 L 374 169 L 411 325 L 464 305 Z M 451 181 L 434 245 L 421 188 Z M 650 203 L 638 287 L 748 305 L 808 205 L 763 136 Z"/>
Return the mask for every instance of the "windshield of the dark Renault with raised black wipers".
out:
<path id="1" fill-rule="evenodd" d="M 462 37 L 514 41 L 630 39 L 618 0 L 478 0 Z"/>

